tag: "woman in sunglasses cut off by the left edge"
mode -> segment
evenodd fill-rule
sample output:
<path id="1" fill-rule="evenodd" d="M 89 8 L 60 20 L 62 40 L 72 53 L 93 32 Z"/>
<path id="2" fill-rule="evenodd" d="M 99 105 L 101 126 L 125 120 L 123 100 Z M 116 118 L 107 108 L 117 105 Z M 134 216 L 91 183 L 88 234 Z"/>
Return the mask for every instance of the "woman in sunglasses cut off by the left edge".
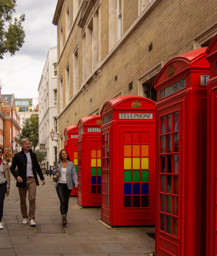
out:
<path id="1" fill-rule="evenodd" d="M 2 217 L 5 194 L 9 195 L 10 190 L 10 169 L 8 163 L 2 159 L 4 150 L 0 147 L 0 229 L 4 229 Z"/>

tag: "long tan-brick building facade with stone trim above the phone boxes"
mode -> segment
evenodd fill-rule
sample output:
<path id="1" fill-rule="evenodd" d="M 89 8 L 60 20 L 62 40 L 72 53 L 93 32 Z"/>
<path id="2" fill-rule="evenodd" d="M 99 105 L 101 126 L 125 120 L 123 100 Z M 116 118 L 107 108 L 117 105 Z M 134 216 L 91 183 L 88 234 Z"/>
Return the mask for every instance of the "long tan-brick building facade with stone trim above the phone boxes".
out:
<path id="1" fill-rule="evenodd" d="M 65 127 L 99 114 L 119 95 L 155 98 L 171 58 L 205 47 L 217 33 L 216 1 L 58 0 L 58 148 Z"/>

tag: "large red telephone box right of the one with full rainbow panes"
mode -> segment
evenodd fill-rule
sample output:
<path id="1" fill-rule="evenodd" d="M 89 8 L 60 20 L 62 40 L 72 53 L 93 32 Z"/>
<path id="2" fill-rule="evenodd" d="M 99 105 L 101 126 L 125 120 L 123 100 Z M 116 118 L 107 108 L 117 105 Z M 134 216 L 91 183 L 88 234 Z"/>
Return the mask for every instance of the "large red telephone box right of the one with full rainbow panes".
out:
<path id="1" fill-rule="evenodd" d="M 155 81 L 158 103 L 158 256 L 205 255 L 206 48 L 166 63 Z"/>

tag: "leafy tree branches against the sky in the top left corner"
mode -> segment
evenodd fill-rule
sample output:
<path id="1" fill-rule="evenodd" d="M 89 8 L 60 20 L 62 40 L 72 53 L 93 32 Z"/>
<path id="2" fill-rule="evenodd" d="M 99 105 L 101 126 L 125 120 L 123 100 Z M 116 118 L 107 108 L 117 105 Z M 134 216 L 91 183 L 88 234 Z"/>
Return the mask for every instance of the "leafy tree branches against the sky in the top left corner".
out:
<path id="1" fill-rule="evenodd" d="M 3 59 L 6 52 L 14 55 L 24 43 L 22 22 L 25 20 L 25 14 L 13 20 L 15 7 L 16 0 L 0 0 L 0 59 Z"/>

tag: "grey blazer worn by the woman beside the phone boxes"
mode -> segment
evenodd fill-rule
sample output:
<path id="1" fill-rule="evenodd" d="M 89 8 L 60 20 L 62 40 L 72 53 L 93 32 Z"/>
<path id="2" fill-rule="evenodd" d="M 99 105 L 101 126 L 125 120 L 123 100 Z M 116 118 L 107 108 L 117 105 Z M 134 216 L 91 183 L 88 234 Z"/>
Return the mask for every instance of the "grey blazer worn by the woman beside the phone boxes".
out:
<path id="1" fill-rule="evenodd" d="M 60 161 L 60 163 L 54 167 L 52 172 L 53 175 L 56 173 L 57 168 L 59 168 L 59 178 L 56 182 L 55 188 L 57 188 L 60 177 L 61 177 L 62 161 Z M 78 175 L 76 172 L 75 165 L 73 162 L 70 162 L 68 160 L 67 160 L 67 169 L 66 169 L 66 182 L 67 182 L 68 189 L 73 189 L 75 188 L 75 184 L 78 184 Z"/>

